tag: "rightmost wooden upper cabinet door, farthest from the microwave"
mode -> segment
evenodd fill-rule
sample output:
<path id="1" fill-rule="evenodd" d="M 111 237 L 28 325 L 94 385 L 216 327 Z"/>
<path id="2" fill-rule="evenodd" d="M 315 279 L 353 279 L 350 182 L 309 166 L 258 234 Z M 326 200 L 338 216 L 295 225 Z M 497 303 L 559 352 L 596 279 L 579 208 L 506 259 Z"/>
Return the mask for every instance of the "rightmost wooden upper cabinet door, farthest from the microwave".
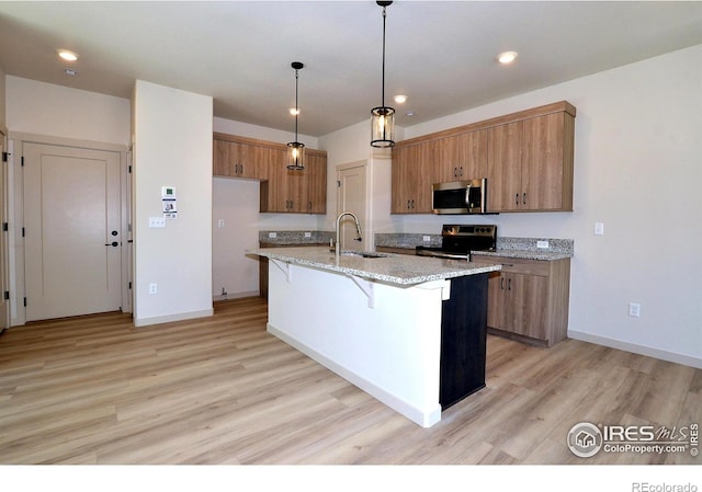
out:
<path id="1" fill-rule="evenodd" d="M 523 122 L 522 208 L 564 209 L 565 113 Z M 570 205 L 571 207 L 571 205 Z"/>

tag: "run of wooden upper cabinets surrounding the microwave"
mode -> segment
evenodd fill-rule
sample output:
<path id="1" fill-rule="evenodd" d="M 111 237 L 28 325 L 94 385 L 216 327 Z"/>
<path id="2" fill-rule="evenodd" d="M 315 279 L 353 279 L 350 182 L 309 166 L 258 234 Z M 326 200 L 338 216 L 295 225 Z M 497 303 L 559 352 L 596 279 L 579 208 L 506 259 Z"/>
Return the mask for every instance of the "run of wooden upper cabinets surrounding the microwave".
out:
<path id="1" fill-rule="evenodd" d="M 571 211 L 576 108 L 566 101 L 397 142 L 393 214 L 431 214 L 431 184 L 487 178 L 489 211 Z"/>

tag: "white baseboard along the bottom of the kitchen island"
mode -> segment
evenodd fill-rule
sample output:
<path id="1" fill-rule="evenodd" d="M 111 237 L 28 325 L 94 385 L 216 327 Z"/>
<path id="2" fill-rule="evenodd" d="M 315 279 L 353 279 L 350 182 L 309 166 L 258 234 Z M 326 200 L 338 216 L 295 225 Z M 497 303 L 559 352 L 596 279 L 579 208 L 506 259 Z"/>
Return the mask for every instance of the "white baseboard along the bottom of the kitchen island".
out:
<path id="1" fill-rule="evenodd" d="M 292 336 L 287 335 L 287 333 L 279 330 L 272 324 L 268 323 L 267 330 L 273 336 L 279 337 L 280 340 L 287 343 L 293 348 L 298 350 L 299 352 L 302 352 L 313 361 L 318 362 L 319 364 L 325 366 L 327 369 L 338 374 L 339 376 L 344 378 L 347 381 L 359 387 L 360 389 L 362 389 L 363 391 L 365 391 L 376 400 L 385 403 L 387 407 L 405 415 L 407 419 L 411 420 L 416 424 L 421 425 L 422 427 L 431 427 L 433 424 L 435 424 L 441 420 L 440 405 L 437 405 L 437 408 L 430 412 L 422 412 L 420 409 L 412 407 L 407 402 L 398 399 L 397 397 L 385 391 L 383 388 L 380 388 L 372 381 L 369 381 L 367 379 L 356 375 L 355 373 L 347 369 L 346 367 L 339 365 L 338 363 L 329 359 L 328 357 L 318 353 L 314 348 L 310 348 L 304 343 L 293 339 Z"/>

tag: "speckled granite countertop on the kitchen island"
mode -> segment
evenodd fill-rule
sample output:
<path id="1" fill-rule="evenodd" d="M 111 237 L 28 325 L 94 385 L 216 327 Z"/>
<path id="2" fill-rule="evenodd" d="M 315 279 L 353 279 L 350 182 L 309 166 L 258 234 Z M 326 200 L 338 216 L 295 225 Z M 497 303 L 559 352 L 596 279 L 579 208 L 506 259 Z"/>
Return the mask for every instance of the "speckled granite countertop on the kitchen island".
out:
<path id="1" fill-rule="evenodd" d="M 426 282 L 501 270 L 500 265 L 478 265 L 460 260 L 392 253 L 372 253 L 382 254 L 382 256 L 363 258 L 358 254 L 344 254 L 347 252 L 343 252 L 337 261 L 335 253 L 330 252 L 327 247 L 263 248 L 247 250 L 246 253 L 267 256 L 285 263 L 397 284 L 398 286 L 411 286 Z"/>

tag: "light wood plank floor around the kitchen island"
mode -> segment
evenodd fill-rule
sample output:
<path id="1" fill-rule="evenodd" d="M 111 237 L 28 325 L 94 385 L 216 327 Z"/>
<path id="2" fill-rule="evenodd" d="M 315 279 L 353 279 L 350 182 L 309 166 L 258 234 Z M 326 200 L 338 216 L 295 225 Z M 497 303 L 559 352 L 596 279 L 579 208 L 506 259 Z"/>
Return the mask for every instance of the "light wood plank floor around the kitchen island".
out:
<path id="1" fill-rule="evenodd" d="M 488 337 L 487 387 L 422 428 L 265 332 L 267 305 L 135 329 L 110 313 L 0 336 L 0 464 L 700 464 L 577 458 L 582 421 L 702 422 L 702 370 L 575 340 Z"/>

